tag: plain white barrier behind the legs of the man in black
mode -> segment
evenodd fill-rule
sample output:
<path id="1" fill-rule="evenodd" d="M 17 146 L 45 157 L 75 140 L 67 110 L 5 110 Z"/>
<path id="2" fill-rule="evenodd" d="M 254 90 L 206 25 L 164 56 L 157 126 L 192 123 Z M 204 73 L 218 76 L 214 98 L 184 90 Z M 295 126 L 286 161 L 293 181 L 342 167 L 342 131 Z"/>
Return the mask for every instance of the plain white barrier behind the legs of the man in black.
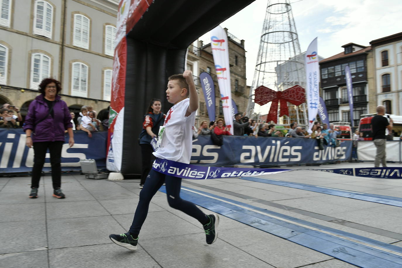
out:
<path id="1" fill-rule="evenodd" d="M 402 162 L 402 141 L 386 141 L 387 161 Z M 377 148 L 373 141 L 357 141 L 357 157 L 362 161 L 374 161 Z"/>

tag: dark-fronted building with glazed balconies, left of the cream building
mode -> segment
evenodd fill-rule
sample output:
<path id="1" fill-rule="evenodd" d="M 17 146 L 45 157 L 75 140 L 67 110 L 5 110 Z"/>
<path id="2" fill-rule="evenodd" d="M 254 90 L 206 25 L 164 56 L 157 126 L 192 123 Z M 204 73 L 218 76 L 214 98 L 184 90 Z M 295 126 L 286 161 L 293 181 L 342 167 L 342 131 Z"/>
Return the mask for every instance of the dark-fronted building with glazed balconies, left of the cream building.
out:
<path id="1" fill-rule="evenodd" d="M 344 51 L 320 61 L 321 96 L 325 101 L 330 122 L 351 122 L 345 67 L 349 65 L 353 86 L 354 126 L 360 115 L 375 110 L 373 56 L 371 47 L 349 43 Z"/>

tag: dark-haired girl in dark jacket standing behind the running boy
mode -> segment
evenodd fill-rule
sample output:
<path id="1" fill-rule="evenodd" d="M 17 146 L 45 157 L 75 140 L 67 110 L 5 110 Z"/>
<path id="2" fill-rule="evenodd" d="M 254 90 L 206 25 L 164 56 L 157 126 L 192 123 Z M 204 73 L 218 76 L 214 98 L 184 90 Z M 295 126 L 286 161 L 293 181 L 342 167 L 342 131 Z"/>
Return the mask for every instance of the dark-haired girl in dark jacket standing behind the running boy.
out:
<path id="1" fill-rule="evenodd" d="M 139 188 L 145 184 L 145 180 L 148 176 L 148 173 L 151 171 L 152 161 L 155 159 L 152 152 L 151 139 L 156 137 L 159 133 L 159 127 L 163 125 L 165 120 L 164 114 L 160 112 L 162 108 L 161 102 L 159 99 L 153 98 L 148 106 L 148 111 L 144 119 L 144 123 L 142 124 L 142 131 L 139 135 L 139 146 L 141 147 L 141 155 L 142 155 L 142 174 L 141 174 L 141 182 L 139 183 Z"/>

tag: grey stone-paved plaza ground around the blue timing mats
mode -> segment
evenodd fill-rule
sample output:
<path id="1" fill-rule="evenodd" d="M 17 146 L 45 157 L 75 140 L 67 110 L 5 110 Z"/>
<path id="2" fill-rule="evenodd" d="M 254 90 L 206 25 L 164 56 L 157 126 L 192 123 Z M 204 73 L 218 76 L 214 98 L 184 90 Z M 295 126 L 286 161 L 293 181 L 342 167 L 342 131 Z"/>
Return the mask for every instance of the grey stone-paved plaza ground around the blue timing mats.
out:
<path id="1" fill-rule="evenodd" d="M 314 168 L 372 166 L 365 162 Z M 402 180 L 304 170 L 311 168 L 306 166 L 283 168 L 298 170 L 263 177 L 402 198 Z M 341 257 L 312 249 L 314 245 L 301 245 L 273 235 L 270 230 L 263 231 L 258 224 L 236 221 L 230 213 L 219 213 L 218 239 L 207 245 L 198 221 L 170 208 L 162 191 L 152 199 L 139 235 L 139 247 L 131 252 L 112 243 L 108 236 L 127 232 L 139 200 L 138 186 L 139 180 L 92 180 L 83 175 L 64 175 L 62 190 L 66 198 L 57 199 L 51 196 L 50 176 L 43 176 L 39 197 L 29 199 L 29 177 L 0 178 L 0 267 L 356 267 Z M 183 180 L 182 186 L 203 192 L 204 196 L 232 200 L 235 205 L 253 206 L 267 213 L 304 220 L 306 224 L 402 247 L 402 208 L 398 206 L 238 178 Z M 365 267 L 387 268 L 374 264 Z"/>

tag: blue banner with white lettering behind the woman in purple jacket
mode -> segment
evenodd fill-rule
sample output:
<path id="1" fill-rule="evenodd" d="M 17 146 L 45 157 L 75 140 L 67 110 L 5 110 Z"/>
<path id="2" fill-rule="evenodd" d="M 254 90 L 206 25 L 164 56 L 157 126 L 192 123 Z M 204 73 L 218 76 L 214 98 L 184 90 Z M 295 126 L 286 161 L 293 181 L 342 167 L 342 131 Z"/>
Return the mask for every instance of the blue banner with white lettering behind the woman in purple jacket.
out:
<path id="1" fill-rule="evenodd" d="M 30 172 L 33 167 L 33 148 L 25 145 L 22 129 L 0 129 L 0 173 Z M 81 159 L 94 159 L 96 166 L 106 168 L 107 131 L 99 131 L 88 138 L 84 131 L 74 131 L 75 144 L 68 147 L 68 135 L 62 148 L 62 170 L 81 170 Z M 49 171 L 50 155 L 47 153 L 43 171 Z"/>

